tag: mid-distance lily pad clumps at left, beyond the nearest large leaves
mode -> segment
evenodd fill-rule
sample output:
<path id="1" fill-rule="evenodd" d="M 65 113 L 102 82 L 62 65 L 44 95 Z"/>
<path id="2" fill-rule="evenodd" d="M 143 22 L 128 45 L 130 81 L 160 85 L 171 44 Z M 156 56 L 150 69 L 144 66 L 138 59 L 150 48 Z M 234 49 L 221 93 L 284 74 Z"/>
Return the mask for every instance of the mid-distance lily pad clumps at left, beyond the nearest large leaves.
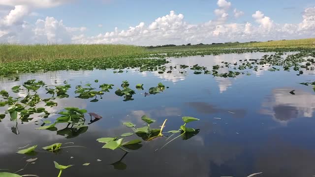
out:
<path id="1" fill-rule="evenodd" d="M 95 80 L 95 83 L 97 82 L 98 80 Z M 11 88 L 12 94 L 19 94 L 20 92 L 23 92 L 26 94 L 26 96 L 24 97 L 9 94 L 10 90 L 1 90 L 0 107 L 7 106 L 7 110 L 4 114 L 0 114 L 0 121 L 6 116 L 9 116 L 11 121 L 17 121 L 19 119 L 22 122 L 28 122 L 32 120 L 31 115 L 33 114 L 39 114 L 38 116 L 42 118 L 48 118 L 51 113 L 49 113 L 46 108 L 58 106 L 58 102 L 56 101 L 56 99 L 58 100 L 69 97 L 68 90 L 71 88 L 71 85 L 69 85 L 66 81 L 64 81 L 63 83 L 64 85 L 51 87 L 47 86 L 43 81 L 28 80 L 22 86 L 14 86 Z M 102 95 L 105 92 L 110 92 L 110 90 L 113 89 L 113 86 L 113 84 L 101 84 L 96 90 L 96 88 L 92 87 L 91 83 L 88 83 L 85 86 L 76 86 L 76 90 L 74 91 L 74 93 L 77 94 L 76 98 L 91 98 L 90 102 L 97 102 L 97 96 L 102 99 Z M 135 94 L 136 91 L 129 88 L 128 81 L 123 81 L 121 87 L 123 89 L 117 89 L 115 91 L 115 94 L 118 96 L 124 96 L 124 101 L 133 100 L 132 95 Z M 135 88 L 138 90 L 143 90 L 143 84 L 137 84 Z M 149 93 L 146 92 L 145 95 L 147 96 L 149 94 L 157 94 L 162 92 L 164 89 L 165 86 L 162 83 L 158 83 L 157 87 L 150 88 L 148 90 Z M 41 90 L 46 90 L 46 95 L 49 95 L 49 97 L 42 98 L 37 93 Z M 38 105 L 39 103 L 44 103 L 45 106 L 36 107 L 36 105 Z M 86 110 L 80 110 L 78 108 L 64 108 L 64 110 L 65 112 L 59 113 L 60 115 L 62 115 L 62 117 L 57 118 L 55 123 L 49 124 L 51 122 L 49 122 L 48 120 L 43 121 L 42 126 L 38 129 L 54 129 L 56 123 L 65 122 L 69 124 L 71 123 L 71 128 L 85 129 L 82 124 L 85 121 L 84 114 L 86 113 Z M 66 130 L 64 131 L 66 132 Z M 58 131 L 57 134 L 63 134 L 62 132 L 63 131 Z"/>

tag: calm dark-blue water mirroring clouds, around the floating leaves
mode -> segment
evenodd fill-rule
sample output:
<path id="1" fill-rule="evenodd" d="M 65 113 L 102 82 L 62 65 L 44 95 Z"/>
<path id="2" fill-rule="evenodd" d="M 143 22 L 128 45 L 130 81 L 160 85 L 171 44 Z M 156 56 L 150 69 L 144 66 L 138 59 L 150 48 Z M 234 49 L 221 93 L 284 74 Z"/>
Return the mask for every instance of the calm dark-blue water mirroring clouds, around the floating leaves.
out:
<path id="1" fill-rule="evenodd" d="M 221 64 L 221 61 L 259 59 L 265 54 L 195 56 L 170 59 L 169 65 L 198 63 L 212 66 Z M 257 177 L 312 177 L 315 175 L 315 93 L 311 87 L 298 83 L 315 81 L 314 72 L 296 76 L 293 70 L 270 72 L 267 69 L 268 66 L 258 72 L 252 71 L 251 76 L 240 75 L 237 78 L 194 75 L 187 68 L 188 72 L 184 74 L 176 69 L 170 74 L 140 73 L 136 69 L 120 74 L 114 74 L 112 70 L 60 71 L 22 75 L 17 82 L 2 80 L 0 89 L 6 90 L 28 79 L 43 80 L 51 86 L 63 85 L 67 80 L 72 87 L 68 90 L 70 98 L 54 100 L 58 106 L 48 111 L 58 113 L 64 107 L 79 107 L 103 118 L 90 124 L 87 132 L 66 138 L 57 135 L 56 131 L 35 130 L 39 125 L 34 121 L 41 119 L 37 117 L 23 124 L 19 122 L 19 135 L 16 135 L 11 131 L 11 127 L 16 129 L 16 124 L 6 117 L 0 123 L 0 169 L 16 172 L 25 167 L 27 159 L 37 157 L 35 164 L 28 164 L 19 174 L 57 177 L 59 170 L 53 164 L 57 161 L 62 165 L 75 165 L 66 169 L 63 177 L 247 177 L 259 172 L 262 174 Z M 95 79 L 99 82 L 94 83 Z M 137 94 L 133 95 L 133 101 L 124 102 L 123 97 L 114 93 L 124 80 L 129 81 L 131 89 L 135 89 L 136 84 L 144 84 L 144 90 L 135 89 Z M 159 82 L 169 89 L 145 97 L 144 93 Z M 86 83 L 92 83 L 96 88 L 103 83 L 115 86 L 102 96 L 103 99 L 91 103 L 89 101 L 93 98 L 74 98 L 75 86 Z M 295 95 L 289 93 L 291 90 L 295 90 Z M 43 91 L 39 94 L 48 97 Z M 26 93 L 19 95 L 25 96 Z M 44 105 L 37 107 L 40 106 Z M 1 114 L 4 109 L 1 108 Z M 122 125 L 125 121 L 131 121 L 137 127 L 144 126 L 143 115 L 156 119 L 151 124 L 156 128 L 167 118 L 166 131 L 178 129 L 183 116 L 200 118 L 200 121 L 189 123 L 189 127 L 199 129 L 199 133 L 188 140 L 178 138 L 164 148 L 161 147 L 165 138 L 142 142 L 140 149 L 125 156 L 122 150 L 101 148 L 103 144 L 95 141 L 131 132 L 130 128 Z M 52 114 L 48 119 L 57 117 Z M 65 126 L 57 127 L 60 130 Z M 136 137 L 133 135 L 126 139 Z M 69 142 L 74 144 L 63 146 L 86 148 L 64 148 L 57 154 L 40 149 L 54 143 Z M 35 156 L 15 153 L 26 145 L 38 145 L 38 153 Z M 84 163 L 91 164 L 82 166 Z"/>

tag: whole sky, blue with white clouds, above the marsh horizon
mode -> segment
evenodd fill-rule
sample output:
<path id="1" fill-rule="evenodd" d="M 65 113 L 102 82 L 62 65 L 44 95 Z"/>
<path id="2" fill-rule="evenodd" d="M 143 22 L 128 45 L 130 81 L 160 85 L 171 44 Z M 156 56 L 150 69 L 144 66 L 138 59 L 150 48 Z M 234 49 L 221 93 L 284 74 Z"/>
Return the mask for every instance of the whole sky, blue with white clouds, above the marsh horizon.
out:
<path id="1" fill-rule="evenodd" d="M 310 37 L 314 0 L 0 0 L 0 43 L 150 46 Z"/>

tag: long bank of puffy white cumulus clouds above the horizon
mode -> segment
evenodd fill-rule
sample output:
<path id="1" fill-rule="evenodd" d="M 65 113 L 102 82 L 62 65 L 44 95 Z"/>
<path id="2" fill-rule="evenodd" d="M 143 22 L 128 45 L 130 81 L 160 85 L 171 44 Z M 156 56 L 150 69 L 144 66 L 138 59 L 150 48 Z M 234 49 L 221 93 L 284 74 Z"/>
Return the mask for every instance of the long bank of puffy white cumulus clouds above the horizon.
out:
<path id="1" fill-rule="evenodd" d="M 66 1 L 69 0 L 54 2 Z M 231 23 L 228 21 L 231 6 L 231 2 L 218 0 L 218 8 L 214 10 L 216 18 L 200 24 L 189 24 L 183 14 L 170 11 L 149 24 L 141 22 L 128 29 L 115 28 L 113 31 L 88 36 L 84 32 L 85 27 L 68 27 L 66 22 L 54 17 L 38 19 L 35 24 L 26 22 L 23 17 L 30 13 L 30 9 L 25 5 L 16 5 L 0 17 L 0 42 L 120 43 L 143 46 L 315 37 L 315 7 L 304 10 L 301 23 L 278 24 L 259 10 L 252 14 L 253 23 Z M 244 14 L 239 9 L 232 11 L 234 17 Z"/>

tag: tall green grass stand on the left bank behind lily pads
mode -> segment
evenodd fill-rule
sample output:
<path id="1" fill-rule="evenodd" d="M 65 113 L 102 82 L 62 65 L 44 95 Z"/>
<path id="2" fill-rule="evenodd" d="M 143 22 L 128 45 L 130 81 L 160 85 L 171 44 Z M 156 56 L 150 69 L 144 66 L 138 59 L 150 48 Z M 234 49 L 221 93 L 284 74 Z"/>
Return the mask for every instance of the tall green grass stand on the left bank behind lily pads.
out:
<path id="1" fill-rule="evenodd" d="M 22 61 L 34 59 L 89 59 L 140 55 L 143 47 L 114 44 L 67 44 L 67 45 L 17 45 L 0 44 L 0 61 Z"/>

